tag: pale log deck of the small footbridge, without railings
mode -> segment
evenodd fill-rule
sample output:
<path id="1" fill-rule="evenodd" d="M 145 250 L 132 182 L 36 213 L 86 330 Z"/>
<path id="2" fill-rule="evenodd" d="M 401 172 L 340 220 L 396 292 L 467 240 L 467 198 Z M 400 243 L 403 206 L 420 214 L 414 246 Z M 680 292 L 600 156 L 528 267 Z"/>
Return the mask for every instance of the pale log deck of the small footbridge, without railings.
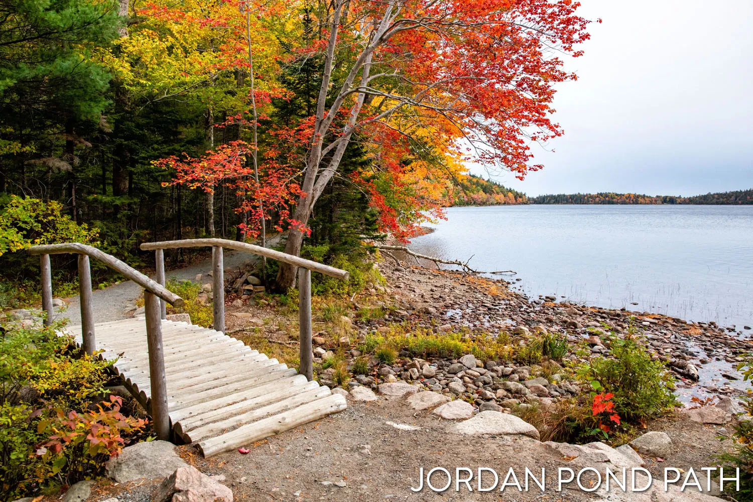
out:
<path id="1" fill-rule="evenodd" d="M 81 327 L 67 333 L 81 343 Z M 144 318 L 95 325 L 102 357 L 149 409 Z M 205 457 L 248 445 L 346 408 L 327 387 L 219 331 L 162 321 L 168 409 L 176 439 Z"/>

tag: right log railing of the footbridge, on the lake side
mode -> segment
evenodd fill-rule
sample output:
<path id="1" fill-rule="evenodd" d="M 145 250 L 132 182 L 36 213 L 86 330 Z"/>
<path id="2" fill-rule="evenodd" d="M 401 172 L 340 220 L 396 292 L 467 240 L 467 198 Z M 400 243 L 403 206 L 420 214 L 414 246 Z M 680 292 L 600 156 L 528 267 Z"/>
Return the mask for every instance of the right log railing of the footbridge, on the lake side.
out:
<path id="1" fill-rule="evenodd" d="M 317 263 L 316 261 L 306 260 L 292 254 L 274 251 L 273 249 L 262 248 L 245 242 L 230 241 L 227 239 L 185 239 L 181 241 L 168 242 L 148 242 L 142 244 L 141 248 L 145 251 L 156 251 L 157 260 L 157 278 L 164 285 L 164 254 L 165 249 L 174 248 L 201 248 L 212 247 L 212 304 L 214 314 L 215 330 L 224 332 L 225 330 L 225 288 L 224 288 L 224 266 L 222 248 L 235 249 L 236 251 L 245 251 L 247 253 L 258 254 L 273 260 L 291 263 L 298 267 L 298 321 L 300 336 L 300 368 L 298 373 L 306 375 L 306 378 L 313 378 L 313 360 L 311 353 L 311 272 L 319 272 L 331 277 L 347 281 L 349 273 L 346 270 L 336 269 L 333 266 Z M 161 275 L 160 275 L 160 270 Z"/>

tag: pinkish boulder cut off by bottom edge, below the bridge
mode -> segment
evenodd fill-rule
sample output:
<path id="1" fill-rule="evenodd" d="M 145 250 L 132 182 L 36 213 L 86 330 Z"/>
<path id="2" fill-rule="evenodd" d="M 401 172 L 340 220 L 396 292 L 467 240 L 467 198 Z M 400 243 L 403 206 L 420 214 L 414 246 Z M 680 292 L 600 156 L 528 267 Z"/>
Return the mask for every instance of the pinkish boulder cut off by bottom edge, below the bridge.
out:
<path id="1" fill-rule="evenodd" d="M 233 491 L 200 473 L 196 467 L 179 467 L 157 487 L 154 502 L 233 502 Z"/>

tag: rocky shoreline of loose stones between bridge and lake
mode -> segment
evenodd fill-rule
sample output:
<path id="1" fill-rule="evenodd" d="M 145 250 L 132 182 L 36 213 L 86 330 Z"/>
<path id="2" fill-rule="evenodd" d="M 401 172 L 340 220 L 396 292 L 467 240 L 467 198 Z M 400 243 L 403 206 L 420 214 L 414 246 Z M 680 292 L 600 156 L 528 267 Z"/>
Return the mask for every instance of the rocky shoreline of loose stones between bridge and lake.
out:
<path id="1" fill-rule="evenodd" d="M 461 272 L 425 269 L 419 266 L 396 265 L 383 261 L 380 271 L 386 287 L 372 292 L 383 294 L 392 303 L 392 310 L 383 318 L 352 321 L 359 341 L 369 334 L 385 333 L 395 323 L 407 323 L 434 333 L 463 330 L 474 333 L 508 331 L 517 336 L 532 333 L 558 333 L 566 336 L 570 351 L 565 361 L 583 359 L 575 348 L 587 344 L 592 354 L 609 354 L 608 334 L 621 336 L 630 324 L 645 336 L 648 351 L 654 359 L 666 363 L 677 377 L 677 394 L 686 403 L 695 396 L 737 397 L 744 384 L 736 365 L 753 349 L 748 337 L 714 322 L 688 323 L 680 318 L 651 312 L 630 312 L 625 309 L 600 309 L 557 303 L 555 297 L 529 299 L 508 289 L 503 279 L 483 278 Z M 317 337 L 316 361 L 334 353 L 322 337 Z M 358 357 L 357 348 L 349 351 Z M 547 405 L 560 397 L 576 396 L 578 383 L 569 379 L 561 365 L 550 361 L 549 378 L 541 375 L 541 367 L 511 364 L 505 361 L 471 361 L 472 355 L 455 359 L 416 360 L 405 352 L 398 354 L 395 364 L 380 364 L 377 376 L 355 375 L 351 386 L 365 385 L 374 390 L 380 382 L 411 382 L 433 391 L 464 397 L 480 409 L 505 411 L 515 406 Z M 574 361 L 575 362 L 575 361 Z M 320 374 L 322 382 L 336 387 L 330 380 L 331 370 Z M 560 374 L 561 373 L 561 374 Z"/>

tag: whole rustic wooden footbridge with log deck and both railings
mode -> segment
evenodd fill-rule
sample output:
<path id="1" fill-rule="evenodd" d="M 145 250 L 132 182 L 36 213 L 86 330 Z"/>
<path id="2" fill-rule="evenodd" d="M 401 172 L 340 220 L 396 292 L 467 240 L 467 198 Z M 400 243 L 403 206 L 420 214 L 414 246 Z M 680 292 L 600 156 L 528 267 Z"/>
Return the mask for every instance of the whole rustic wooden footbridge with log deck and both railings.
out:
<path id="1" fill-rule="evenodd" d="M 163 250 L 212 247 L 214 329 L 167 321 L 166 303 L 183 299 L 165 287 Z M 312 381 L 311 271 L 343 280 L 348 272 L 243 242 L 191 239 L 143 244 L 154 250 L 157 281 L 117 258 L 78 243 L 32 246 L 41 255 L 42 307 L 53 318 L 50 254 L 78 254 L 81 326 L 66 327 L 88 354 L 115 361 L 113 371 L 151 414 L 162 440 L 197 443 L 205 457 L 248 445 L 346 408 L 346 400 Z M 300 374 L 224 334 L 223 248 L 298 267 Z M 94 319 L 89 259 L 105 263 L 144 288 L 145 316 Z M 96 333 L 96 334 L 95 334 Z"/>

